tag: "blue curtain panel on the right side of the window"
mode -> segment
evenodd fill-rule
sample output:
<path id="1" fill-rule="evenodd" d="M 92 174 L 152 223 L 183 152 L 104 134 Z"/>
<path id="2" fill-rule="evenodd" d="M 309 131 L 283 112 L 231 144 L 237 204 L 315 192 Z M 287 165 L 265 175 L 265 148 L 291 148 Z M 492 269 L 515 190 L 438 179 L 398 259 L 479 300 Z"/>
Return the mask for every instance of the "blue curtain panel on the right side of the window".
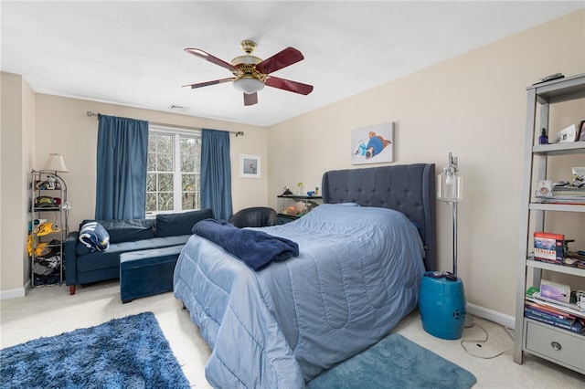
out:
<path id="1" fill-rule="evenodd" d="M 201 207 L 217 219 L 232 215 L 228 131 L 201 131 Z"/>

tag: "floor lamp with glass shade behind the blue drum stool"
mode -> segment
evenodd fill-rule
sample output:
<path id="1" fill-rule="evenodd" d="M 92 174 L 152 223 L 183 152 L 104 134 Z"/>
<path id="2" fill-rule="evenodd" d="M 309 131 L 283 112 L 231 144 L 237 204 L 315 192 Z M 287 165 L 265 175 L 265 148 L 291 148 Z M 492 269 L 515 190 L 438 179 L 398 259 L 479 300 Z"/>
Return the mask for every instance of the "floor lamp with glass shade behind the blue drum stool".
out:
<path id="1" fill-rule="evenodd" d="M 457 157 L 449 152 L 449 163 L 437 176 L 437 198 L 452 205 L 453 211 L 453 275 L 457 276 L 457 203 L 463 199 L 463 177 L 459 174 Z M 473 317 L 465 315 L 465 327 L 473 326 Z"/>

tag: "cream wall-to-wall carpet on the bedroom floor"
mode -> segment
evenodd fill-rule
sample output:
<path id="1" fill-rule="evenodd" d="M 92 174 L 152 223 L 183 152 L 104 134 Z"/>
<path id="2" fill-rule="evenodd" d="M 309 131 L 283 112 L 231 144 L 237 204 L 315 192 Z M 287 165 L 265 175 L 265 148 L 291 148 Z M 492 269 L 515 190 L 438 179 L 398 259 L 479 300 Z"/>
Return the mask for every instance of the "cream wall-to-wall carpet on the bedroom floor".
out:
<path id="1" fill-rule="evenodd" d="M 112 281 L 78 288 L 74 296 L 69 296 L 69 288 L 65 286 L 36 288 L 23 299 L 2 300 L 0 304 L 0 348 L 150 310 L 159 321 L 191 386 L 209 387 L 204 369 L 210 350 L 173 293 L 122 304 L 120 285 Z M 474 327 L 463 331 L 462 340 L 483 340 L 485 335 L 481 328 L 488 332 L 489 337 L 483 343 L 465 342 L 470 352 L 490 357 L 512 350 L 512 331 L 480 318 L 475 318 L 475 323 Z M 473 388 L 585 387 L 585 375 L 530 355 L 525 357 L 522 365 L 513 362 L 511 352 L 492 359 L 473 357 L 463 349 L 459 340 L 442 340 L 422 330 L 418 311 L 400 321 L 394 331 L 473 373 L 477 378 Z"/>

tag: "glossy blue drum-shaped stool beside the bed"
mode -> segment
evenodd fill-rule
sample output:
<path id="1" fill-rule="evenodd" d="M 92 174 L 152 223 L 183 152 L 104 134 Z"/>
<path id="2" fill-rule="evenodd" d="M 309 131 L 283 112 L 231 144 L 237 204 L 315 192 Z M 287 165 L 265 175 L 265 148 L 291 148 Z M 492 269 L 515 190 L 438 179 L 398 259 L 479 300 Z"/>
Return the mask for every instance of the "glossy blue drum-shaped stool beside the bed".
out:
<path id="1" fill-rule="evenodd" d="M 420 284 L 419 310 L 422 328 L 441 339 L 459 339 L 465 326 L 463 280 L 433 278 L 425 273 Z"/>

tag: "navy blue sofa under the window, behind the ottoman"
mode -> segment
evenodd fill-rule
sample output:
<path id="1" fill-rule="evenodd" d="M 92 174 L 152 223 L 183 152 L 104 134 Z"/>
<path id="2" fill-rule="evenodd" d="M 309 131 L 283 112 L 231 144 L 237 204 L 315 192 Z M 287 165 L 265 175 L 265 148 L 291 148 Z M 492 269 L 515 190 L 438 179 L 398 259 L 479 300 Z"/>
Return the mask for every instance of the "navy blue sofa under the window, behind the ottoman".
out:
<path id="1" fill-rule="evenodd" d="M 77 285 L 120 278 L 122 253 L 185 245 L 193 225 L 207 218 L 213 218 L 209 208 L 157 215 L 155 219 L 84 220 L 80 230 L 87 223 L 97 221 L 107 231 L 110 244 L 104 251 L 91 251 L 80 242 L 80 231 L 69 233 L 64 256 L 69 294 L 75 294 Z"/>

